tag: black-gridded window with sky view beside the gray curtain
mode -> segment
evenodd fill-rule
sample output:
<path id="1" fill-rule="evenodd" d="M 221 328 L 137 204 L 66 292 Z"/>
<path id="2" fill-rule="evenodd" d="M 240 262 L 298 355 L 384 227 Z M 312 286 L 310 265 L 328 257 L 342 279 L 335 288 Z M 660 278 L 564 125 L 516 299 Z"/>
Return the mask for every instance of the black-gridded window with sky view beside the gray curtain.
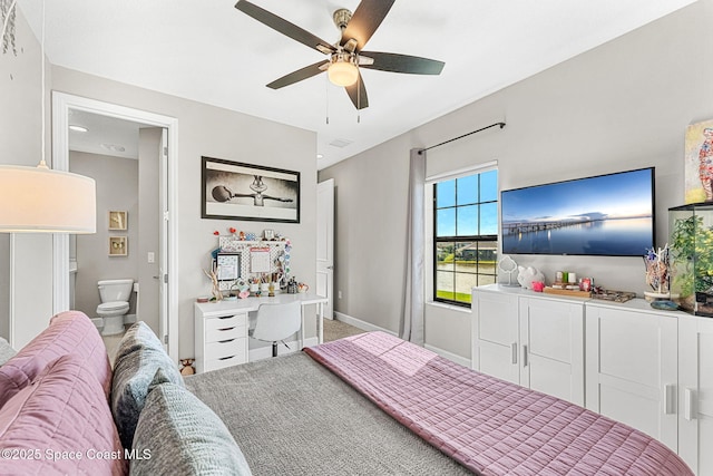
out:
<path id="1" fill-rule="evenodd" d="M 433 185 L 433 300 L 470 304 L 497 281 L 498 171 Z"/>

